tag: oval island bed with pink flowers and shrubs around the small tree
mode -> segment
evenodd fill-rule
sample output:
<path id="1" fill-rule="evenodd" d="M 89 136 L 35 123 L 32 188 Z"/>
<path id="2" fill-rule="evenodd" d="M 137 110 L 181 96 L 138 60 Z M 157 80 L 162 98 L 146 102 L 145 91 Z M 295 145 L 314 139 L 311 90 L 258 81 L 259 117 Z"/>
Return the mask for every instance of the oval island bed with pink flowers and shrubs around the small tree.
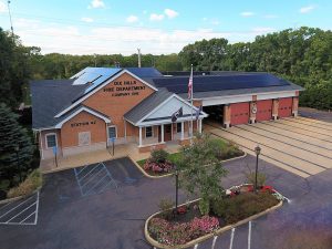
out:
<path id="1" fill-rule="evenodd" d="M 263 186 L 256 194 L 252 185 L 236 186 L 225 191 L 225 196 L 211 200 L 209 216 L 201 216 L 198 210 L 198 200 L 187 203 L 173 211 L 158 212 L 152 216 L 146 224 L 147 239 L 154 246 L 162 248 L 177 248 L 190 241 L 218 232 L 229 225 L 262 214 L 276 207 L 282 196 L 272 187 Z M 151 239 L 149 239 L 151 238 Z M 191 245 L 193 246 L 193 245 Z M 183 248 L 183 247 L 181 247 Z"/>

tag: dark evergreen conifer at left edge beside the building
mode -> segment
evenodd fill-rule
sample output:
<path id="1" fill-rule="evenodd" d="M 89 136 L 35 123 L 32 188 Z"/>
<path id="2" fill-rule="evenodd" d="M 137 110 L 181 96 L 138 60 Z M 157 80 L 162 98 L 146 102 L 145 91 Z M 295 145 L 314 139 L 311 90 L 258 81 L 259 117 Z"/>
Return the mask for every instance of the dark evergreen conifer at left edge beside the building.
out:
<path id="1" fill-rule="evenodd" d="M 18 151 L 17 151 L 18 148 Z M 18 123 L 18 115 L 3 103 L 0 103 L 0 177 L 15 184 L 14 176 L 27 172 L 33 154 L 31 138 Z"/>

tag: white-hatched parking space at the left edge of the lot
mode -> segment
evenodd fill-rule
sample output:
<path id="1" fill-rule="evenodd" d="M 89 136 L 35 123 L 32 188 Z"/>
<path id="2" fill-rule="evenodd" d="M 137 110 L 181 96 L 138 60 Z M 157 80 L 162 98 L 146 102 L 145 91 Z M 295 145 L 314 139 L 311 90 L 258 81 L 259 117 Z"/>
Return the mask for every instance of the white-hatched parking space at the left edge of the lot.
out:
<path id="1" fill-rule="evenodd" d="M 0 226 L 37 225 L 39 210 L 39 191 L 34 195 L 0 206 Z"/>

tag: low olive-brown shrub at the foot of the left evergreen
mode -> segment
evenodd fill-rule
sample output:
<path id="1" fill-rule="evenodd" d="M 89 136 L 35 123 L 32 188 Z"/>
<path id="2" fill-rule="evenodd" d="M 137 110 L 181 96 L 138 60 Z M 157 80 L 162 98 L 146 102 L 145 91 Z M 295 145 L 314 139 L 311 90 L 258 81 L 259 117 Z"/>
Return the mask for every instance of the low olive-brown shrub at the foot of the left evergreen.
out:
<path id="1" fill-rule="evenodd" d="M 42 186 L 42 174 L 39 169 L 34 169 L 18 187 L 11 188 L 7 196 L 8 198 L 27 196 L 32 194 L 40 186 Z"/>

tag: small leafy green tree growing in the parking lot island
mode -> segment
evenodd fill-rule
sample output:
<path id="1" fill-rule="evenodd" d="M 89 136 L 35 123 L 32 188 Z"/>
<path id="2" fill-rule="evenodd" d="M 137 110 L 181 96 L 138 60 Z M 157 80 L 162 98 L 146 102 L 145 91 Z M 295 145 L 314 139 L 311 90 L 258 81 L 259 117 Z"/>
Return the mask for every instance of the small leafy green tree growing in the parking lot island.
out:
<path id="1" fill-rule="evenodd" d="M 220 197 L 224 193 L 221 177 L 227 175 L 217 158 L 219 146 L 207 134 L 197 134 L 193 145 L 181 149 L 183 156 L 177 167 L 179 187 L 189 195 L 199 195 L 199 209 L 203 215 L 208 215 L 210 199 Z"/>

